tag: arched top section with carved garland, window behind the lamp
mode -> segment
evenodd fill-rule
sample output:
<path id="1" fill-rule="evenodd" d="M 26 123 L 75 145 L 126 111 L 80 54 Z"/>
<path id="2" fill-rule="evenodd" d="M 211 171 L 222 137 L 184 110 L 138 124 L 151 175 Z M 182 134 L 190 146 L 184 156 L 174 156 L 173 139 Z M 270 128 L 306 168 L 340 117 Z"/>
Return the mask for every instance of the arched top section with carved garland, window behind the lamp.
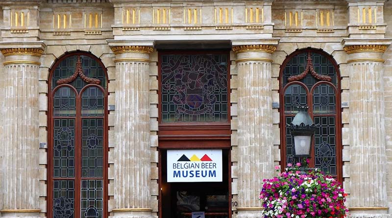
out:
<path id="1" fill-rule="evenodd" d="M 292 81 L 304 83 L 309 89 L 318 81 L 338 85 L 338 73 L 332 58 L 322 51 L 305 49 L 294 52 L 283 63 L 281 84 Z"/>

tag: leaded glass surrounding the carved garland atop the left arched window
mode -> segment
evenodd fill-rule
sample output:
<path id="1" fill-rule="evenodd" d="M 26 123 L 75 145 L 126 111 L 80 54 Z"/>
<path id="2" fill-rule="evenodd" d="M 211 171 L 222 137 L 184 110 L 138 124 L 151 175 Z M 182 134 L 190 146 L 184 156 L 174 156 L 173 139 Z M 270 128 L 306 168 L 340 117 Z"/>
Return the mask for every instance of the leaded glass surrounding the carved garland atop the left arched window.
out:
<path id="1" fill-rule="evenodd" d="M 76 67 L 76 60 L 78 55 L 70 56 L 60 62 L 60 64 L 54 69 L 52 76 L 52 89 L 57 86 L 56 82 L 59 79 L 65 79 L 73 75 Z M 90 78 L 99 79 L 100 86 L 106 88 L 106 75 L 99 63 L 91 57 L 80 55 L 82 62 L 82 69 L 84 75 Z M 70 82 L 77 91 L 80 91 L 88 83 L 84 82 L 78 75 L 72 82 Z"/>

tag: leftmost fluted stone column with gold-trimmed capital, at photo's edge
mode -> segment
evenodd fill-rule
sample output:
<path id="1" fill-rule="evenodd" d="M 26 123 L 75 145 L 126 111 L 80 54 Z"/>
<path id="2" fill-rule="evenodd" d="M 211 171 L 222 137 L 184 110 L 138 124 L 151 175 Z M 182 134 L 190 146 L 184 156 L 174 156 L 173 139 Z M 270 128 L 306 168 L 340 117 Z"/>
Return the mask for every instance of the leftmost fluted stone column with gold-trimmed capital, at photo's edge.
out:
<path id="1" fill-rule="evenodd" d="M 1 217 L 38 217 L 38 68 L 43 49 L 10 48 L 1 52 L 5 56 Z"/>

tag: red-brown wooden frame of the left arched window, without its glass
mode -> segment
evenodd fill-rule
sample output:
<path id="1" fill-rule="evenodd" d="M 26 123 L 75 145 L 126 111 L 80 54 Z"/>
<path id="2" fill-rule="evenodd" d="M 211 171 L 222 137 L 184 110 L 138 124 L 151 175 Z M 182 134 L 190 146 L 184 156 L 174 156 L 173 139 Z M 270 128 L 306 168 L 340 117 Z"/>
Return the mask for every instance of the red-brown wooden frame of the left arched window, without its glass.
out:
<path id="1" fill-rule="evenodd" d="M 69 84 L 62 84 L 62 85 L 58 85 L 55 86 L 52 89 L 52 84 L 51 84 L 51 80 L 53 77 L 53 73 L 54 70 L 58 67 L 58 65 L 66 58 L 71 57 L 71 56 L 75 56 L 75 55 L 83 55 L 83 56 L 88 56 L 92 59 L 94 59 L 95 61 L 98 62 L 98 64 L 102 67 L 102 70 L 106 76 L 106 88 L 101 87 L 99 85 L 93 85 L 93 84 L 87 84 L 85 85 L 80 92 L 77 92 L 77 90 Z M 53 66 L 49 69 L 49 77 L 48 77 L 48 167 L 47 167 L 47 173 L 48 173 L 48 182 L 47 182 L 47 217 L 48 218 L 53 218 L 53 181 L 54 180 L 73 180 L 75 181 L 73 184 L 73 189 L 74 189 L 74 202 L 73 202 L 73 217 L 74 218 L 80 218 L 80 200 L 81 200 L 81 184 L 80 182 L 83 180 L 88 180 L 88 179 L 97 179 L 97 178 L 101 178 L 101 177 L 94 177 L 94 178 L 89 178 L 89 177 L 82 177 L 81 176 L 81 144 L 82 144 L 82 138 L 81 138 L 81 129 L 82 129 L 82 118 L 83 119 L 89 119 L 89 118 L 99 118 L 99 119 L 103 119 L 103 170 L 102 170 L 102 180 L 103 180 L 103 202 L 102 202 L 102 218 L 107 218 L 108 217 L 108 151 L 109 151 L 109 147 L 108 147 L 108 108 L 107 108 L 107 100 L 108 100 L 108 86 L 109 86 L 109 79 L 108 79 L 108 74 L 107 74 L 107 69 L 105 68 L 105 66 L 103 65 L 102 61 L 94 56 L 91 53 L 88 52 L 83 52 L 83 51 L 75 51 L 75 52 L 70 52 L 70 53 L 66 53 L 63 56 L 61 56 L 60 58 L 58 58 Z M 73 178 L 53 178 L 53 121 L 54 121 L 54 116 L 53 116 L 53 97 L 55 92 L 60 89 L 61 87 L 69 87 L 71 88 L 74 92 L 75 92 L 75 116 L 74 117 L 56 117 L 59 119 L 74 119 L 75 120 L 75 141 L 74 141 L 74 147 L 75 147 L 75 156 L 74 156 L 74 168 L 75 168 L 75 174 Z M 89 87 L 98 87 L 102 93 L 104 94 L 104 115 L 101 117 L 85 117 L 85 116 L 81 116 L 81 98 L 82 98 L 82 93 L 85 89 L 89 88 Z M 79 146 L 77 146 L 79 145 Z"/>

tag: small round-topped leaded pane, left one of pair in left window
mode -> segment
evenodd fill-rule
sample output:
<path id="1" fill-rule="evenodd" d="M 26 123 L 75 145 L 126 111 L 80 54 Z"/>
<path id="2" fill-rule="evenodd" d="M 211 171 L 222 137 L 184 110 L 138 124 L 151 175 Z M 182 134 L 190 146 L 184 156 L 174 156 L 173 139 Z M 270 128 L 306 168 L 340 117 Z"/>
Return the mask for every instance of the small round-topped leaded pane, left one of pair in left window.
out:
<path id="1" fill-rule="evenodd" d="M 69 87 L 61 87 L 54 93 L 53 116 L 74 117 L 76 114 L 76 96 Z"/>

